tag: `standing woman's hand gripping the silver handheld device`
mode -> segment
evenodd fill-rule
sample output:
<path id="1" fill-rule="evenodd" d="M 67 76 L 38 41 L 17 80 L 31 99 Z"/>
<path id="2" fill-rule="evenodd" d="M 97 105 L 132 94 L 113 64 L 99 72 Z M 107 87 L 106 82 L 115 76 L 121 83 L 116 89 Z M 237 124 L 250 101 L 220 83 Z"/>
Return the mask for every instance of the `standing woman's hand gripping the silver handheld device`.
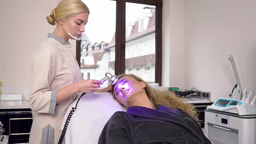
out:
<path id="1" fill-rule="evenodd" d="M 76 82 L 75 84 L 78 92 L 93 93 L 98 90 L 98 88 L 100 87 L 100 85 L 103 84 L 103 82 L 99 80 L 88 79 L 81 80 L 79 82 Z"/>

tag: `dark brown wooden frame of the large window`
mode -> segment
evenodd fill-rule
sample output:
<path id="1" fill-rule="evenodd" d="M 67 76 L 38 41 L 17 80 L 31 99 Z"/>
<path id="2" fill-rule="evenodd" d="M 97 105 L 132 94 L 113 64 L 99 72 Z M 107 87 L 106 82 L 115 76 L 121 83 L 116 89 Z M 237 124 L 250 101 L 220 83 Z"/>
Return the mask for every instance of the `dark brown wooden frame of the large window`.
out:
<path id="1" fill-rule="evenodd" d="M 162 84 L 162 0 L 115 0 L 115 75 L 125 73 L 125 3 L 140 3 L 156 6 L 156 51 L 155 51 L 155 82 Z M 76 41 L 76 60 L 80 67 L 81 40 Z"/>

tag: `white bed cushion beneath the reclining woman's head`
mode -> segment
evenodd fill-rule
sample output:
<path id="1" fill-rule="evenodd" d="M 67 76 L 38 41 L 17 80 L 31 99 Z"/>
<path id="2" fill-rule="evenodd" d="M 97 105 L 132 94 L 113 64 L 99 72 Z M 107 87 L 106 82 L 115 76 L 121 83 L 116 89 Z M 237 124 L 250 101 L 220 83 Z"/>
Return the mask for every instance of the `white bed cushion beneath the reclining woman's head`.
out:
<path id="1" fill-rule="evenodd" d="M 80 97 L 80 95 L 79 95 Z M 79 98 L 78 97 L 78 98 Z M 62 129 L 72 107 L 69 106 L 62 122 Z M 115 111 L 127 109 L 116 101 L 110 92 L 85 94 L 78 102 L 77 108 L 69 122 L 65 135 L 66 144 L 97 144 L 103 127 Z"/>

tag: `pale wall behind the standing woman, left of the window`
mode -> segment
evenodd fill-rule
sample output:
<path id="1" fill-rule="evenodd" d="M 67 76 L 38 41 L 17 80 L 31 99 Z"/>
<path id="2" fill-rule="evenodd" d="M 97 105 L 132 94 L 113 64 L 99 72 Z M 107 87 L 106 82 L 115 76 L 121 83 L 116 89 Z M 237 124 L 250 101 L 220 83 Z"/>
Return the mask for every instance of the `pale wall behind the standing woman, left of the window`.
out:
<path id="1" fill-rule="evenodd" d="M 0 80 L 2 86 L 29 86 L 31 59 L 36 48 L 53 33 L 46 16 L 59 0 L 0 1 Z M 75 52 L 75 41 L 70 40 Z"/>

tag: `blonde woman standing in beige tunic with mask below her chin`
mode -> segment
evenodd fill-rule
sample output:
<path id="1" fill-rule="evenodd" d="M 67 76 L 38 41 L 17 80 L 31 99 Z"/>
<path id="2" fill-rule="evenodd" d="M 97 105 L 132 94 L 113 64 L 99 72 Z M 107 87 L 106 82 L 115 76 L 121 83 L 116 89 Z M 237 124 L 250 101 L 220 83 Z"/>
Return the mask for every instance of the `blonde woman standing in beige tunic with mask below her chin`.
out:
<path id="1" fill-rule="evenodd" d="M 30 144 L 57 144 L 62 120 L 72 101 L 81 92 L 99 92 L 102 82 L 81 80 L 79 65 L 68 42 L 69 39 L 81 39 L 89 13 L 81 0 L 62 0 L 46 17 L 49 24 L 56 24 L 56 28 L 48 34 L 48 39 L 39 46 L 32 59 Z"/>

